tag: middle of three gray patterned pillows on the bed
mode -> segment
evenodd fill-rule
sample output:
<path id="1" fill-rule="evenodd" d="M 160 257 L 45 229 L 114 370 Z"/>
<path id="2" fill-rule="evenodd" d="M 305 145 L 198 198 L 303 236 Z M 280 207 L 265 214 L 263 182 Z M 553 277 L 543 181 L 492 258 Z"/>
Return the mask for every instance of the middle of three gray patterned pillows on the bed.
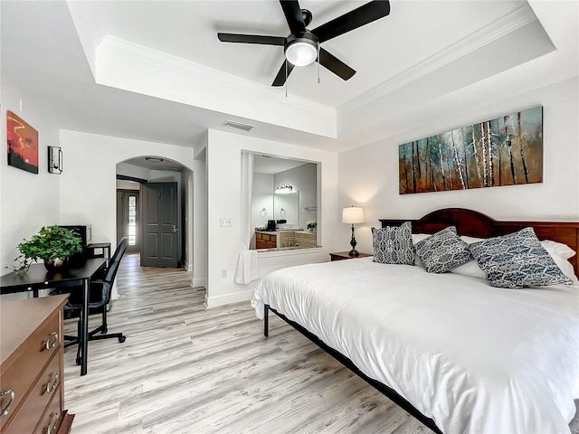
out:
<path id="1" fill-rule="evenodd" d="M 472 259 L 469 244 L 460 240 L 454 226 L 436 232 L 414 247 L 429 273 L 444 273 Z"/>

